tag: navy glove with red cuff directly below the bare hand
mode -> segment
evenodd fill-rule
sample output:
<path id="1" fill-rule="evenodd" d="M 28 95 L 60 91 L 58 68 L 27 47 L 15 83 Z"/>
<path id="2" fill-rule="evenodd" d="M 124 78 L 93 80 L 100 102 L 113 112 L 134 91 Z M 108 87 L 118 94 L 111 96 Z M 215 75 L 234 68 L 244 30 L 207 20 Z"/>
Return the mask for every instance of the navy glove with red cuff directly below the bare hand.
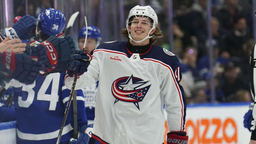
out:
<path id="1" fill-rule="evenodd" d="M 7 69 L 13 71 L 11 75 L 8 75 L 9 77 L 24 84 L 32 84 L 39 76 L 39 71 L 45 69 L 42 63 L 32 60 L 25 54 L 15 54 L 10 50 L 0 54 L 0 61 Z"/>

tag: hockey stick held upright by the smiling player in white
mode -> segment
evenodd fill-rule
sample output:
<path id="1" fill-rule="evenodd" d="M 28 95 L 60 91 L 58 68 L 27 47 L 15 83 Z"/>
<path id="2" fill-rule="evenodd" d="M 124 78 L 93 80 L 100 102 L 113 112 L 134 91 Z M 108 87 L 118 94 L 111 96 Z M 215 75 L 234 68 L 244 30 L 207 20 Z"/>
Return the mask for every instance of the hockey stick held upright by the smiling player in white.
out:
<path id="1" fill-rule="evenodd" d="M 85 49 L 86 40 L 87 40 L 87 20 L 86 20 L 86 16 L 85 16 L 85 25 L 86 25 L 86 35 L 85 35 L 85 42 L 84 42 L 83 51 Z M 66 110 L 65 110 L 64 117 L 63 117 L 63 120 L 62 120 L 62 125 L 60 126 L 59 135 L 58 135 L 56 144 L 59 144 L 59 142 L 60 142 L 60 138 L 61 138 L 61 135 L 62 135 L 62 131 L 63 131 L 64 125 L 65 125 L 65 122 L 66 122 L 66 118 L 68 116 L 68 111 L 69 111 L 70 103 L 71 103 L 71 100 L 72 100 L 72 97 L 73 97 L 73 94 L 74 94 L 77 79 L 78 79 L 78 74 L 75 75 L 73 85 L 71 87 L 68 104 L 66 106 Z"/>

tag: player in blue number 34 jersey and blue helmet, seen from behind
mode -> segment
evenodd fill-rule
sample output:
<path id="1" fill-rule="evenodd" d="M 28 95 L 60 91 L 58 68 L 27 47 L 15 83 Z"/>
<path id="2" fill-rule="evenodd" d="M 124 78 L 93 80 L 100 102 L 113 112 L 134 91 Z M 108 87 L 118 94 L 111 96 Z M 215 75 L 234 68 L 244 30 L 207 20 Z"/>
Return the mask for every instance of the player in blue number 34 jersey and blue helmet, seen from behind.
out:
<path id="1" fill-rule="evenodd" d="M 48 49 L 52 49 L 52 47 L 66 47 L 67 50 L 74 50 L 72 52 L 74 54 L 74 42 L 70 37 L 53 37 L 53 35 L 61 33 L 64 27 L 65 17 L 61 11 L 52 8 L 42 11 L 37 18 L 36 35 L 39 41 L 47 41 L 40 45 L 47 45 Z M 34 41 L 30 44 L 37 46 L 37 43 L 38 42 Z M 52 45 L 49 46 L 47 43 Z M 63 44 L 65 46 L 63 46 Z M 36 48 L 38 47 L 39 46 Z M 39 51 L 39 49 L 34 50 Z M 41 53 L 38 53 L 38 55 L 40 54 Z M 61 55 L 65 53 L 58 54 L 58 56 L 61 57 Z M 54 58 L 54 54 L 52 58 Z M 53 63 L 55 66 L 44 70 L 44 73 L 48 75 L 38 76 L 36 81 L 32 84 L 14 87 L 17 144 L 56 143 L 70 90 L 66 89 L 64 85 L 65 71 L 62 73 L 62 69 L 56 70 L 54 68 L 60 65 L 62 65 L 63 69 L 67 67 L 71 68 L 69 66 L 72 64 L 69 62 L 74 61 L 68 60 L 65 63 L 64 61 L 58 63 L 50 61 L 49 63 Z M 78 126 L 82 127 L 87 124 L 87 118 L 85 115 L 84 96 L 81 90 L 77 91 L 76 99 L 78 107 Z M 73 137 L 72 125 L 73 106 L 71 104 L 70 112 L 62 132 L 61 144 L 67 144 L 69 138 Z"/>

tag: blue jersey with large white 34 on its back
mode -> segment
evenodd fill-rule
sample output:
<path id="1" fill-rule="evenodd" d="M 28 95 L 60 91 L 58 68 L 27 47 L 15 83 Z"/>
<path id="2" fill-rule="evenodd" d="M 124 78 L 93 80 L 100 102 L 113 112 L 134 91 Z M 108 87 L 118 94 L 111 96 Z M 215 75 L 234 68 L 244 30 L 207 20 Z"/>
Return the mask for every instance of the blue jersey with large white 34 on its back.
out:
<path id="1" fill-rule="evenodd" d="M 39 76 L 31 85 L 14 87 L 18 144 L 54 144 L 57 141 L 70 90 L 64 85 L 65 73 Z M 87 124 L 84 96 L 77 90 L 78 125 Z M 73 137 L 73 102 L 60 143 Z"/>

